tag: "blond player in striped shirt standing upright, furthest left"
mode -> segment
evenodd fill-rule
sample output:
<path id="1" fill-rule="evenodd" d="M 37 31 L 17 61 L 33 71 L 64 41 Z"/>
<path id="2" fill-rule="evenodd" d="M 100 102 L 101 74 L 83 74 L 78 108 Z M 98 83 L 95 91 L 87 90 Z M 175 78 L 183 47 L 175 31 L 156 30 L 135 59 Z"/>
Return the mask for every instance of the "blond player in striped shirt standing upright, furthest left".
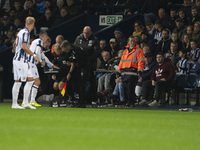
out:
<path id="1" fill-rule="evenodd" d="M 29 49 L 30 45 L 30 32 L 33 30 L 35 19 L 27 17 L 25 20 L 25 28 L 20 30 L 16 38 L 15 56 L 13 58 L 13 71 L 14 71 L 14 85 L 12 88 L 12 108 L 13 109 L 36 109 L 28 103 L 28 96 L 33 85 L 33 78 L 28 67 L 28 54 L 38 63 L 37 56 Z M 23 107 L 17 103 L 19 89 L 22 82 L 26 82 L 23 92 Z"/>

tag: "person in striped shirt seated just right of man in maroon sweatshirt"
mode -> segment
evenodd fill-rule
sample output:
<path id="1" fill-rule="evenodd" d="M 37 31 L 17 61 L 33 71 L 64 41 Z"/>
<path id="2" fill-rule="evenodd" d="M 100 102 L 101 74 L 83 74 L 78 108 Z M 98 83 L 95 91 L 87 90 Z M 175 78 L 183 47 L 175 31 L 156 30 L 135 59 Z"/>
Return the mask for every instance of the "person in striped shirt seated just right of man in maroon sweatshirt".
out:
<path id="1" fill-rule="evenodd" d="M 176 75 L 187 74 L 187 58 L 186 58 L 186 51 L 180 50 L 179 57 L 181 58 L 177 63 L 177 70 Z"/>

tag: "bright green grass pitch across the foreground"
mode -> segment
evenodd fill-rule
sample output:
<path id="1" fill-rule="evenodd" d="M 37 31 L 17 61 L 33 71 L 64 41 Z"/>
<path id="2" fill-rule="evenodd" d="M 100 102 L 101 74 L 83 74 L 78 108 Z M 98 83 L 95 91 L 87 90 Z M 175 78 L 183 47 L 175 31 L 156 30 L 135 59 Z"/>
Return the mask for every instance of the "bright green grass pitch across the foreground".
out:
<path id="1" fill-rule="evenodd" d="M 0 104 L 0 150 L 199 150 L 199 144 L 199 112 Z"/>

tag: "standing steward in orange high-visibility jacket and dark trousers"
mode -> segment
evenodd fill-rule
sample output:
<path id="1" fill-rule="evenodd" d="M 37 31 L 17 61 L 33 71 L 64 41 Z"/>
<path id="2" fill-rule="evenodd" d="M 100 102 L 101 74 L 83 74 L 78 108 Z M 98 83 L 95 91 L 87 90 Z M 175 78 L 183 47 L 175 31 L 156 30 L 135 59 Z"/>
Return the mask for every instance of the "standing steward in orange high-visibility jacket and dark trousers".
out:
<path id="1" fill-rule="evenodd" d="M 144 70 L 144 53 L 142 49 L 139 48 L 139 45 L 135 43 L 133 36 L 129 37 L 128 45 L 126 46 L 126 50 L 123 52 L 117 70 L 122 73 L 136 73 L 136 75 L 122 75 L 122 82 L 127 84 L 127 106 L 134 106 L 136 95 L 133 91 L 138 80 L 138 76 L 140 76 Z"/>

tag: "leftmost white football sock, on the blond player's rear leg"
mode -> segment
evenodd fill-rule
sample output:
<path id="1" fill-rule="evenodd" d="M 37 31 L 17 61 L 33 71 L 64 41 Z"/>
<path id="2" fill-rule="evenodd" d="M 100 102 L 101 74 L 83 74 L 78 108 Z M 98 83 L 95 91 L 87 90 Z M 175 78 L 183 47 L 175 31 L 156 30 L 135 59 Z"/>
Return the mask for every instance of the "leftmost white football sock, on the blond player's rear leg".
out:
<path id="1" fill-rule="evenodd" d="M 12 105 L 13 106 L 17 105 L 17 99 L 18 99 L 19 89 L 20 89 L 21 85 L 22 85 L 21 82 L 15 82 L 13 84 L 13 88 L 12 88 Z"/>

